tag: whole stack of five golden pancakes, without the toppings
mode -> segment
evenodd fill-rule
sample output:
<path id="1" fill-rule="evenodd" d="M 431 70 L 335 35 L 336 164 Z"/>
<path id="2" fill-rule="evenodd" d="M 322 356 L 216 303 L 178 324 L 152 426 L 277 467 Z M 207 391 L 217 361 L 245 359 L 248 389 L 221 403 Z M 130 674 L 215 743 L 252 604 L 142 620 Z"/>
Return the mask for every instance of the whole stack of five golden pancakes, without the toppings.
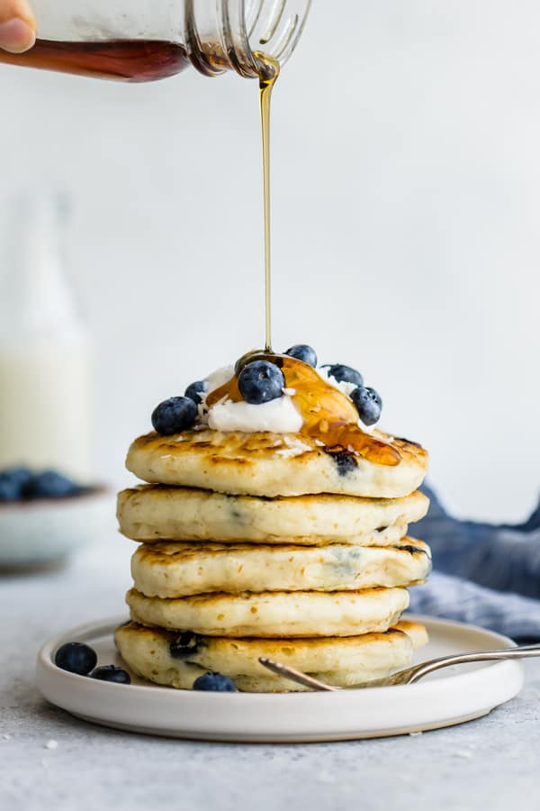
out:
<path id="1" fill-rule="evenodd" d="M 139 676 L 192 688 L 218 671 L 244 691 L 302 689 L 259 656 L 353 687 L 406 667 L 427 641 L 401 620 L 430 570 L 407 536 L 426 514 L 428 455 L 376 434 L 400 462 L 334 451 L 302 433 L 150 433 L 119 495 L 132 558 L 131 622 L 116 632 Z"/>

